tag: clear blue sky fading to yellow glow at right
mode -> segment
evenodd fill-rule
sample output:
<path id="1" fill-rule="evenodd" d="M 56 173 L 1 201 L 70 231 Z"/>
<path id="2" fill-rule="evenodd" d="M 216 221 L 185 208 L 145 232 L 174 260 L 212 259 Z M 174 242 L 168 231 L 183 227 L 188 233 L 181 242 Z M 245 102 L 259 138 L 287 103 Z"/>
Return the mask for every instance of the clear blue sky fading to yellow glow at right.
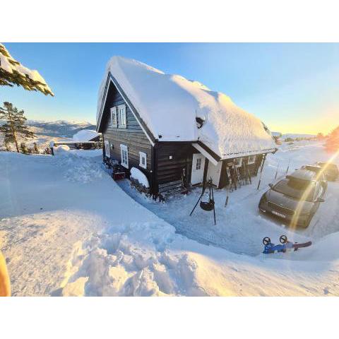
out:
<path id="1" fill-rule="evenodd" d="M 328 133 L 339 125 L 339 44 L 6 43 L 54 92 L 1 86 L 0 102 L 28 119 L 95 123 L 107 61 L 120 55 L 229 95 L 281 133 Z"/>

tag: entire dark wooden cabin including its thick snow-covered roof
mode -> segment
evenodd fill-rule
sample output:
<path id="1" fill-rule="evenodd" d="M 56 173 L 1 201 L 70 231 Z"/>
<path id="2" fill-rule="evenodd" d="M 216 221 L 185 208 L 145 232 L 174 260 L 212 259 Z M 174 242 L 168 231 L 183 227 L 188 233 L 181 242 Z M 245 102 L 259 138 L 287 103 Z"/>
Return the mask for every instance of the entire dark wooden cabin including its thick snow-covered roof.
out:
<path id="1" fill-rule="evenodd" d="M 232 170 L 256 175 L 263 155 L 275 151 L 267 127 L 227 95 L 123 57 L 107 64 L 97 131 L 105 162 L 141 169 L 153 194 L 206 178 L 221 188 Z"/>

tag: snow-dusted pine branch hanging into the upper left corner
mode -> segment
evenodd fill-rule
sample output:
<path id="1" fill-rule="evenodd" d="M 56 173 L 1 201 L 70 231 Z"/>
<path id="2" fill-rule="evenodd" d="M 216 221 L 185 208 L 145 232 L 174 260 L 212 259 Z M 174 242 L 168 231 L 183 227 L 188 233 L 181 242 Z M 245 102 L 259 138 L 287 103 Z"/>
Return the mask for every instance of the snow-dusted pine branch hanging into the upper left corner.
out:
<path id="1" fill-rule="evenodd" d="M 25 90 L 38 90 L 44 95 L 54 96 L 40 73 L 16 61 L 3 44 L 0 44 L 0 85 L 18 85 Z"/>

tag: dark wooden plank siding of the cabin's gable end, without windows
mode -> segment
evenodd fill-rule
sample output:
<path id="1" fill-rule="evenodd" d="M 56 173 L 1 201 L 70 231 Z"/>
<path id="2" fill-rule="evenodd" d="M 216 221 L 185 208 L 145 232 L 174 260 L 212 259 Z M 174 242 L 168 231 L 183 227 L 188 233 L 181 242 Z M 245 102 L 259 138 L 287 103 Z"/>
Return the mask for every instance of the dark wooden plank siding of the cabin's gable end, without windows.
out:
<path id="1" fill-rule="evenodd" d="M 129 151 L 129 168 L 137 167 L 148 175 L 151 170 L 152 145 L 147 136 L 136 121 L 131 109 L 126 105 L 126 128 L 109 126 L 110 109 L 119 105 L 126 105 L 117 88 L 111 83 L 107 93 L 107 100 L 104 107 L 102 126 L 102 136 L 105 141 L 109 141 L 111 158 L 121 161 L 120 145 L 126 145 Z M 139 152 L 146 153 L 147 168 L 139 166 Z M 150 179 L 150 178 L 149 178 Z"/>

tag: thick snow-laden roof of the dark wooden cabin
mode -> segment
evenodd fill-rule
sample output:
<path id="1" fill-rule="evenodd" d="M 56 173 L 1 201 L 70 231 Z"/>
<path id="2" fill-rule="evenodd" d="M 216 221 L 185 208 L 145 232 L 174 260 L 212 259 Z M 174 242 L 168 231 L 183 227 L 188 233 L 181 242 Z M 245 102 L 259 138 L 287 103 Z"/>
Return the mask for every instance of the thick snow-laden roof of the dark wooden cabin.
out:
<path id="1" fill-rule="evenodd" d="M 109 73 L 159 141 L 201 141 L 222 159 L 275 149 L 260 119 L 224 93 L 123 57 L 112 57 L 107 64 L 98 95 L 97 129 Z M 196 117 L 205 121 L 200 129 Z"/>

